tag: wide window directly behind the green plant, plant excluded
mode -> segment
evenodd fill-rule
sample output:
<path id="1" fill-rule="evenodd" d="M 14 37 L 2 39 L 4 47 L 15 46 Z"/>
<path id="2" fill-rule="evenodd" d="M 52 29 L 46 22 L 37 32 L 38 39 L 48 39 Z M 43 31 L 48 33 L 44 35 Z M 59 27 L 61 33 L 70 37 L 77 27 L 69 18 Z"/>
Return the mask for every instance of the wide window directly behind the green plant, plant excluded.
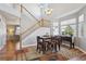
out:
<path id="1" fill-rule="evenodd" d="M 61 35 L 65 35 L 65 28 L 70 26 L 73 29 L 73 35 L 76 36 L 76 18 L 61 22 Z"/>

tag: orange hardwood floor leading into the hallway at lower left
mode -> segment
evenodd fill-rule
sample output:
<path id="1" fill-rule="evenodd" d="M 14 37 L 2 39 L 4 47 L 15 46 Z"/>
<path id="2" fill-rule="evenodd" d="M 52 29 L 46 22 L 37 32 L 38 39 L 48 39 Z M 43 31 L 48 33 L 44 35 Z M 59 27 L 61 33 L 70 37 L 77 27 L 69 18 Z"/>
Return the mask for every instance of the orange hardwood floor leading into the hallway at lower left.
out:
<path id="1" fill-rule="evenodd" d="M 4 52 L 0 54 L 0 60 L 10 61 L 14 57 L 15 43 L 12 40 L 8 40 L 3 49 Z"/>

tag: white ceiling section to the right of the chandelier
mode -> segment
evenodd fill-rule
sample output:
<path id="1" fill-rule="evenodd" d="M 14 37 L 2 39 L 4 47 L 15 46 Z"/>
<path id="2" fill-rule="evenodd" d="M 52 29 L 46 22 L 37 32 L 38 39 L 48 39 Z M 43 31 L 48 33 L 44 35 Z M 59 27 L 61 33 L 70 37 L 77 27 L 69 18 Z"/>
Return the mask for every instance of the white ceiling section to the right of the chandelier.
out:
<path id="1" fill-rule="evenodd" d="M 64 14 L 77 11 L 84 5 L 84 3 L 50 3 L 49 8 L 53 10 L 51 17 L 57 18 Z"/>

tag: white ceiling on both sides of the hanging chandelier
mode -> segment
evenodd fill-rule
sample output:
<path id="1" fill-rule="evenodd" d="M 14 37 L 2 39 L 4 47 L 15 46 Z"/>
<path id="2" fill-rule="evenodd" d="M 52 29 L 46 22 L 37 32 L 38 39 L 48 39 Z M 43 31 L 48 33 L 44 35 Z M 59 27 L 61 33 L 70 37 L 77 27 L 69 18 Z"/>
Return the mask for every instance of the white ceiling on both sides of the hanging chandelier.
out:
<path id="1" fill-rule="evenodd" d="M 48 18 L 45 13 L 40 13 L 39 4 L 37 3 L 27 3 L 24 4 L 28 11 L 32 12 L 37 18 L 39 18 L 42 14 L 44 18 Z M 67 13 L 72 13 L 74 11 L 79 10 L 85 5 L 85 3 L 49 3 L 45 4 L 52 9 L 52 14 L 49 16 L 50 18 L 58 18 L 60 16 L 66 15 Z"/>

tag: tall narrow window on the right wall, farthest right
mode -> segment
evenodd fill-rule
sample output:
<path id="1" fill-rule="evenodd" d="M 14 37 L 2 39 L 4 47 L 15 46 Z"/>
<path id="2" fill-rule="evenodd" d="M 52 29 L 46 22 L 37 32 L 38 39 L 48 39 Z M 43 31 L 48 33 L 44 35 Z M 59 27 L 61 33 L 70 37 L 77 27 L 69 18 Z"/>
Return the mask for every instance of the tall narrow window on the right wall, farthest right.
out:
<path id="1" fill-rule="evenodd" d="M 78 16 L 78 37 L 83 36 L 83 22 L 84 22 L 84 14 Z"/>

